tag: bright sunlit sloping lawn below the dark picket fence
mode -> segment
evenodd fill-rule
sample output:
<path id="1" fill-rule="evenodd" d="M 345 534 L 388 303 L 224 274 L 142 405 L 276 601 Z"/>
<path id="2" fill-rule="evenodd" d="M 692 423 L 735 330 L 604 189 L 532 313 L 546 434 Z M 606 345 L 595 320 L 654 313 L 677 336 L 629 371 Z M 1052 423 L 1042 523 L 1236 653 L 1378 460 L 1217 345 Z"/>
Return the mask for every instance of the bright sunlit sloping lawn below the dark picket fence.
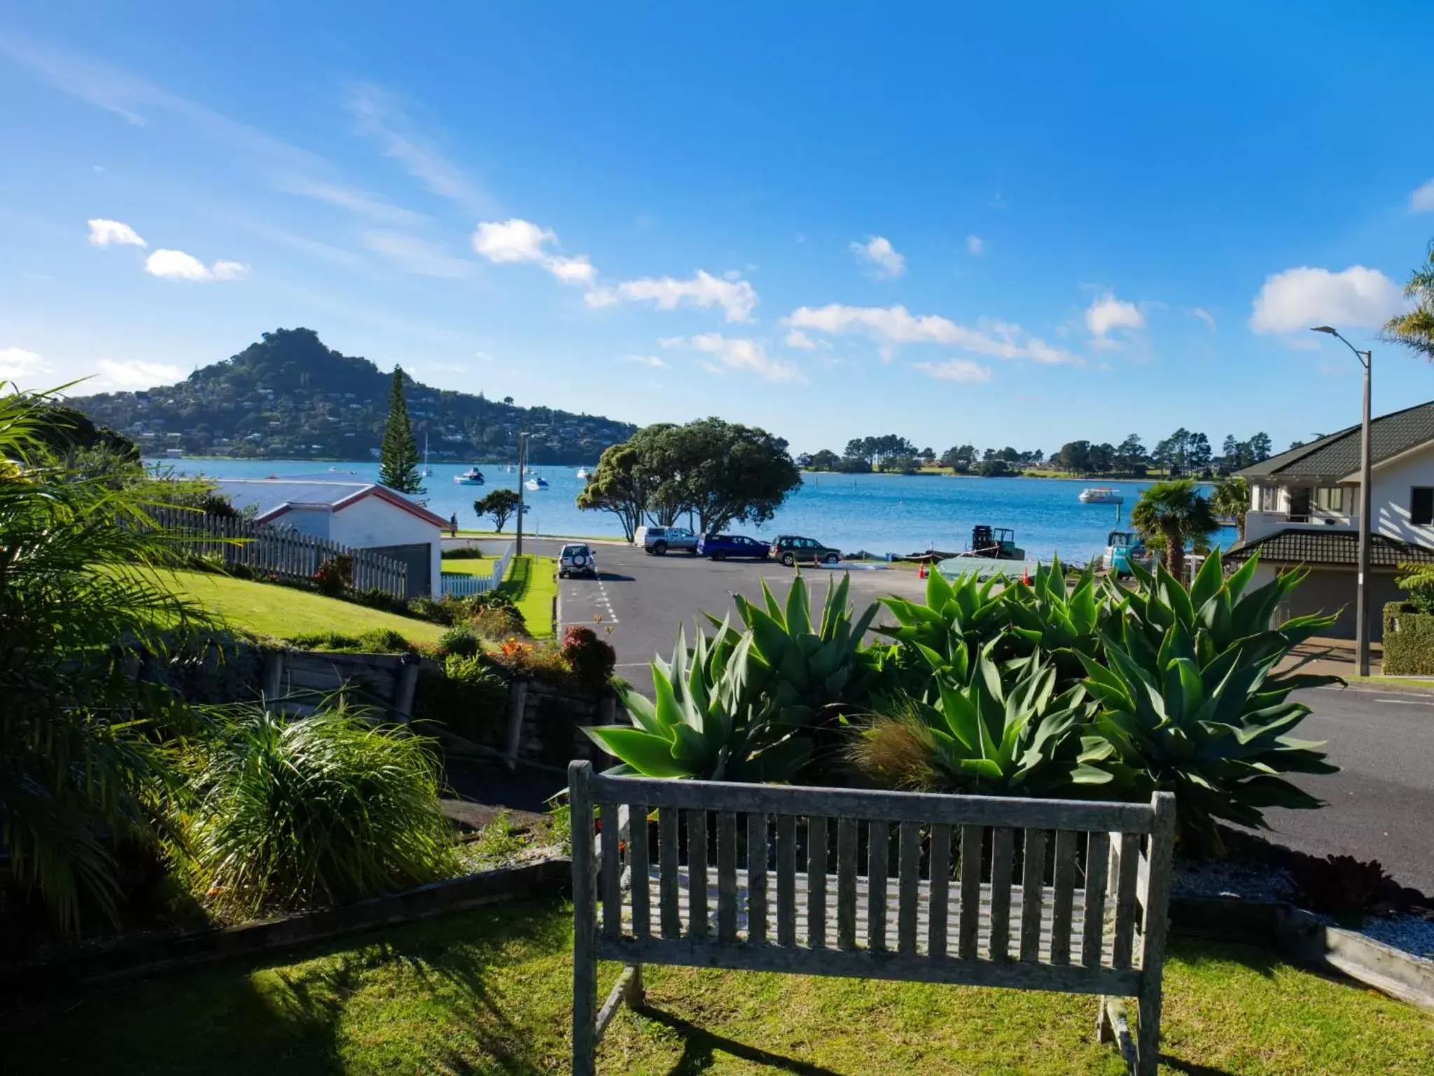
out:
<path id="1" fill-rule="evenodd" d="M 291 638 L 323 631 L 357 636 L 373 628 L 391 628 L 410 643 L 436 643 L 443 631 L 442 626 L 426 620 L 400 617 L 271 582 L 251 582 L 196 571 L 175 572 L 174 578 L 175 590 L 219 614 L 232 627 L 258 636 Z"/>

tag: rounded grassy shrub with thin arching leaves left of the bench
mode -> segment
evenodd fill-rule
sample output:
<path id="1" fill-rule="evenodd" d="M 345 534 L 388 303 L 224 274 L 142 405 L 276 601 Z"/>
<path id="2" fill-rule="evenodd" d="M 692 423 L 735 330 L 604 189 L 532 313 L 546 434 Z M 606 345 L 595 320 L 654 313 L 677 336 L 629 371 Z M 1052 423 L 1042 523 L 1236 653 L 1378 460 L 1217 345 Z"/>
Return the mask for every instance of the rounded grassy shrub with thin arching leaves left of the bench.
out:
<path id="1" fill-rule="evenodd" d="M 219 714 L 184 819 L 195 879 L 227 917 L 357 900 L 453 874 L 430 742 L 356 712 Z"/>

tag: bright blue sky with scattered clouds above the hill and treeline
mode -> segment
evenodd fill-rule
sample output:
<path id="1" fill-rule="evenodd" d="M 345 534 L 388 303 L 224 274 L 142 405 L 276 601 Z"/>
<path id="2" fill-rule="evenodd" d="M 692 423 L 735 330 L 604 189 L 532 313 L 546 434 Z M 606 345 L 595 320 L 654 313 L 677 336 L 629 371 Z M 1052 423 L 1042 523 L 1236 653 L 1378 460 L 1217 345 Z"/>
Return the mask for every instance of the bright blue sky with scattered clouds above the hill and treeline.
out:
<path id="1" fill-rule="evenodd" d="M 998 10 L 989 10 L 998 9 Z M 0 14 L 0 376 L 274 327 L 794 449 L 1358 419 L 1434 235 L 1415 3 Z M 1375 409 L 1434 370 L 1375 350 Z"/>

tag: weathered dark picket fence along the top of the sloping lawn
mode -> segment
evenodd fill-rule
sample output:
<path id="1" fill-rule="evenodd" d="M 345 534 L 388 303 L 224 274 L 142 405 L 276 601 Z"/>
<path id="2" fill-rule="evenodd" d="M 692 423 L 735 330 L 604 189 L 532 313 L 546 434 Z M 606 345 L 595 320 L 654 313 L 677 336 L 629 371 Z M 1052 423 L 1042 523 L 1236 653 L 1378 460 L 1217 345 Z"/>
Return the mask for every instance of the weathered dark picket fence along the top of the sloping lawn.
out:
<path id="1" fill-rule="evenodd" d="M 394 598 L 407 597 L 407 567 L 367 549 L 301 534 L 288 527 L 257 524 L 242 516 L 219 516 L 184 508 L 152 508 L 149 515 L 165 528 L 174 545 L 196 557 L 218 554 L 228 567 L 242 565 L 260 575 L 303 581 L 318 565 L 347 555 L 350 587 L 381 590 Z"/>

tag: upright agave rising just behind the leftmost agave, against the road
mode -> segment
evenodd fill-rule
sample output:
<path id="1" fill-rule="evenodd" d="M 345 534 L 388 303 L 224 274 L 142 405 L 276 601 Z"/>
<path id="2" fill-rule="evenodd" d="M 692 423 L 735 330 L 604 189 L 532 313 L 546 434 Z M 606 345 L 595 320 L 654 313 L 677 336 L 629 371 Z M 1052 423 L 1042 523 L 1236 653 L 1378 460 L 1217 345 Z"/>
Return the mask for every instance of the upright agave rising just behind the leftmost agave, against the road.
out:
<path id="1" fill-rule="evenodd" d="M 853 620 L 850 577 L 827 581 L 826 601 L 813 618 L 806 580 L 797 575 L 786 605 L 761 581 L 763 607 L 736 597 L 737 615 L 751 634 L 751 654 L 764 679 L 756 687 L 783 725 L 810 725 L 830 706 L 859 703 L 869 687 L 862 638 L 876 617 L 872 604 Z M 711 620 L 711 617 L 708 617 Z M 713 620 L 714 624 L 720 621 Z"/>

